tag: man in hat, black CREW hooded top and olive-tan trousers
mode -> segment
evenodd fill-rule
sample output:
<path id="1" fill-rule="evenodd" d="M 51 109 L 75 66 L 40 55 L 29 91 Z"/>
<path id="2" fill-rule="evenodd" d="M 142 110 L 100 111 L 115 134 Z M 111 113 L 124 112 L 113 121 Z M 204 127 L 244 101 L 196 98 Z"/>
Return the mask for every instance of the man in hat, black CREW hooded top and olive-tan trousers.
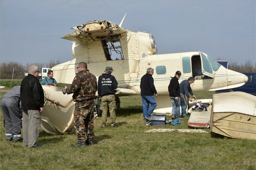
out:
<path id="1" fill-rule="evenodd" d="M 107 113 L 111 117 L 111 127 L 116 127 L 116 101 L 115 101 L 115 89 L 117 88 L 117 81 L 114 76 L 111 75 L 113 68 L 111 66 L 106 67 L 105 73 L 99 76 L 98 79 L 98 95 L 101 97 L 100 108 L 102 109 L 102 125 L 100 127 L 107 126 Z"/>

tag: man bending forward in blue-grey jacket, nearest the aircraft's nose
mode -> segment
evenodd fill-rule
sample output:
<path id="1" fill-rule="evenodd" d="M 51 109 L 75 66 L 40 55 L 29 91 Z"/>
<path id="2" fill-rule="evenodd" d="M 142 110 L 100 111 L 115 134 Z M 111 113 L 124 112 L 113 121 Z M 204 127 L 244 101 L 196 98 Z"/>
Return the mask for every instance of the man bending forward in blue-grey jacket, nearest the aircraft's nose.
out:
<path id="1" fill-rule="evenodd" d="M 192 102 L 192 98 L 189 96 L 191 94 L 194 99 L 196 99 L 190 85 L 195 81 L 194 77 L 189 77 L 189 79 L 183 80 L 180 83 L 180 106 L 181 106 L 181 117 L 186 117 L 186 107 L 188 102 L 186 100 L 186 96 L 190 102 Z M 185 96 L 186 95 L 186 96 Z"/>

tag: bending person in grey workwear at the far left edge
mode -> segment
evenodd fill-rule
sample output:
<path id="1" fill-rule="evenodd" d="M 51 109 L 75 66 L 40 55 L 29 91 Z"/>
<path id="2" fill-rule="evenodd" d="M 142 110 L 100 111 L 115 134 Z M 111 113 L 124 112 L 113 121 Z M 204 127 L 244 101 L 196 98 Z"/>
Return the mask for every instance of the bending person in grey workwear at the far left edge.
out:
<path id="1" fill-rule="evenodd" d="M 3 111 L 3 119 L 5 122 L 5 134 L 7 141 L 22 142 L 21 138 L 21 122 L 22 111 L 20 108 L 20 86 L 15 86 L 11 91 L 7 92 L 2 100 L 1 107 Z"/>

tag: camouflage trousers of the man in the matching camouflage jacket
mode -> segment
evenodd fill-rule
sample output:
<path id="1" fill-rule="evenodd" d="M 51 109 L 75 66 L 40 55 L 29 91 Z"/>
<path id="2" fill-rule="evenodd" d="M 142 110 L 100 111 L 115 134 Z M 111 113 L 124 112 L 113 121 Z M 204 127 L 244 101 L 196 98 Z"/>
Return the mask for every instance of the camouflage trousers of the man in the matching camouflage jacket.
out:
<path id="1" fill-rule="evenodd" d="M 74 123 L 76 135 L 79 141 L 84 142 L 87 139 L 93 140 L 94 137 L 94 99 L 76 102 L 74 114 Z"/>

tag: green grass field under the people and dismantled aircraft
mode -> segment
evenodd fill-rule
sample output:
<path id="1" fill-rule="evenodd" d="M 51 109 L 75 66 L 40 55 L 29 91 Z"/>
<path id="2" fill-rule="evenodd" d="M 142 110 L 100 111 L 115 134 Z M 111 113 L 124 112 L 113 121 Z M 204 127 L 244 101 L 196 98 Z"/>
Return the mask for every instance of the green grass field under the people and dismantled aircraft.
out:
<path id="1" fill-rule="evenodd" d="M 1 90 L 1 97 L 7 90 Z M 213 92 L 196 92 L 198 99 Z M 76 134 L 50 135 L 41 130 L 40 148 L 6 142 L 0 111 L 0 169 L 24 170 L 256 170 L 256 141 L 211 138 L 208 133 L 144 133 L 140 96 L 121 97 L 119 127 L 100 129 L 95 119 L 95 145 L 75 148 Z M 170 119 L 170 116 L 167 117 Z M 188 129 L 182 125 L 164 128 Z M 163 127 L 160 127 L 163 128 Z"/>

